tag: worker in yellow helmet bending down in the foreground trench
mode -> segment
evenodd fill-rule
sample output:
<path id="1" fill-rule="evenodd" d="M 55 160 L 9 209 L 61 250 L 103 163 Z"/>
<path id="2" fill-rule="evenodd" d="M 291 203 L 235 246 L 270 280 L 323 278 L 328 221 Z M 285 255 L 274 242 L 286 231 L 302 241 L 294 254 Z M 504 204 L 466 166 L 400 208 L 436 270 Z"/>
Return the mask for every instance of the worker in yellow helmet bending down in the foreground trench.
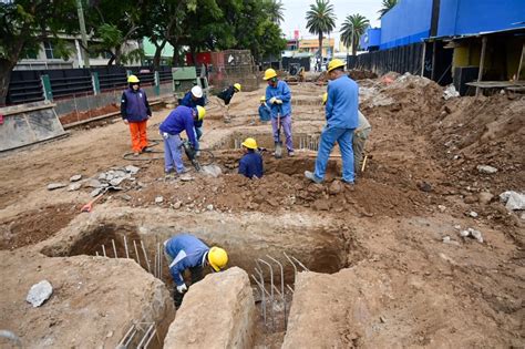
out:
<path id="1" fill-rule="evenodd" d="M 192 274 L 193 285 L 203 279 L 205 266 L 209 266 L 213 271 L 220 271 L 228 264 L 226 250 L 216 246 L 209 248 L 191 234 L 179 234 L 165 240 L 164 256 L 175 283 L 173 299 L 177 309 L 188 289 L 183 276 L 186 269 Z"/>

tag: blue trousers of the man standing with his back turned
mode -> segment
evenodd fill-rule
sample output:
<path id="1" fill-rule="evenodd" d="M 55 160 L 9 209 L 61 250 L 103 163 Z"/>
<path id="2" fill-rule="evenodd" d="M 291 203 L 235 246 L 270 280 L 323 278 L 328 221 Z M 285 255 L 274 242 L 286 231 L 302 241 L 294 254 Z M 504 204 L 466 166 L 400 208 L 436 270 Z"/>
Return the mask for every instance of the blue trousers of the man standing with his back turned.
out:
<path id="1" fill-rule="evenodd" d="M 353 183 L 353 150 L 352 137 L 354 129 L 339 129 L 326 126 L 321 132 L 321 140 L 319 142 L 319 151 L 316 160 L 315 175 L 319 179 L 325 179 L 327 171 L 328 157 L 333 148 L 333 145 L 339 143 L 342 157 L 342 179 L 348 183 Z"/>

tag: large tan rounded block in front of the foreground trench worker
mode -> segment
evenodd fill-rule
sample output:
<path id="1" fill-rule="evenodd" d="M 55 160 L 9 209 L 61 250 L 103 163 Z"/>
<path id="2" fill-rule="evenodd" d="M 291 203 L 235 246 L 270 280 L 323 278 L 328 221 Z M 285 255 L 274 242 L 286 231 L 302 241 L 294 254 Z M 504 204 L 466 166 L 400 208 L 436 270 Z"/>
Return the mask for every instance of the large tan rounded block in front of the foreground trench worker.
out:
<path id="1" fill-rule="evenodd" d="M 251 348 L 254 324 L 248 274 L 234 267 L 189 287 L 164 348 Z"/>

